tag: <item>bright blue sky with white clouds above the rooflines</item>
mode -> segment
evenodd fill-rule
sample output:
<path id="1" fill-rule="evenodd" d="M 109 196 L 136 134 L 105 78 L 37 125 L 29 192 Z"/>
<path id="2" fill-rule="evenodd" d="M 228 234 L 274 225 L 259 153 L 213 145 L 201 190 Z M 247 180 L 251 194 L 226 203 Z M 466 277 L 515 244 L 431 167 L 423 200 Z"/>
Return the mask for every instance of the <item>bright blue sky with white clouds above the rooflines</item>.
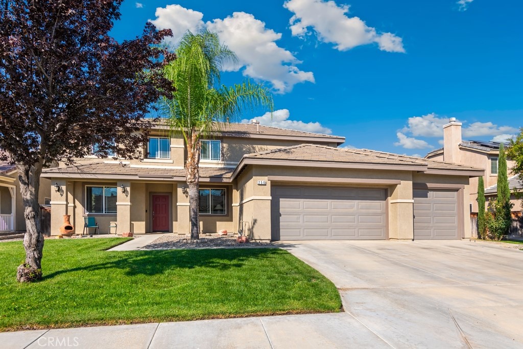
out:
<path id="1" fill-rule="evenodd" d="M 523 4 L 485 0 L 125 1 L 112 35 L 147 20 L 173 43 L 207 28 L 239 58 L 222 82 L 248 77 L 275 93 L 266 125 L 332 133 L 344 145 L 422 155 L 441 126 L 501 140 L 523 126 Z"/>

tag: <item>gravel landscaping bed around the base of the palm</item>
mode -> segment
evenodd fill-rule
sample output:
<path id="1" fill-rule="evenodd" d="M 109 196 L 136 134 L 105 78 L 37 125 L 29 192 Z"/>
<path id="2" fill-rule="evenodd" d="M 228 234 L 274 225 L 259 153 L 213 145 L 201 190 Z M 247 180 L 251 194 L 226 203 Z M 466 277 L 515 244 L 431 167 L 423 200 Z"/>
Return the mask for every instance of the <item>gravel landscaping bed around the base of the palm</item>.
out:
<path id="1" fill-rule="evenodd" d="M 216 247 L 259 247 L 271 246 L 270 242 L 236 242 L 236 235 L 200 234 L 200 241 L 188 238 L 163 236 L 143 247 L 142 250 L 209 249 Z"/>

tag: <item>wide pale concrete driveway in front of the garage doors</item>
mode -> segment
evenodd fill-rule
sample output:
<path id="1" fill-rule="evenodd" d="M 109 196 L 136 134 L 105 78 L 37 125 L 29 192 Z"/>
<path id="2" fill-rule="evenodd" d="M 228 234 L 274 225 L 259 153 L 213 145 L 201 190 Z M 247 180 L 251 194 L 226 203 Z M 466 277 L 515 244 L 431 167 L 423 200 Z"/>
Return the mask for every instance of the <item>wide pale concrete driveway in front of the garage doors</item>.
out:
<path id="1" fill-rule="evenodd" d="M 523 347 L 523 251 L 469 241 L 286 249 L 331 279 L 345 311 L 392 347 Z"/>

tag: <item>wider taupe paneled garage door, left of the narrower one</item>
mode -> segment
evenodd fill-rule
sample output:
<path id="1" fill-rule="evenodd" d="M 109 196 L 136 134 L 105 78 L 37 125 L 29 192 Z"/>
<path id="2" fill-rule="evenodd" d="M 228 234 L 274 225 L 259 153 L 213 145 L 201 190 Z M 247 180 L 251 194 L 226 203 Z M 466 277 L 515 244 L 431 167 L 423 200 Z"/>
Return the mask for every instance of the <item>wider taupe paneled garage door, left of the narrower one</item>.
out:
<path id="1" fill-rule="evenodd" d="M 272 187 L 273 240 L 385 239 L 385 189 Z"/>

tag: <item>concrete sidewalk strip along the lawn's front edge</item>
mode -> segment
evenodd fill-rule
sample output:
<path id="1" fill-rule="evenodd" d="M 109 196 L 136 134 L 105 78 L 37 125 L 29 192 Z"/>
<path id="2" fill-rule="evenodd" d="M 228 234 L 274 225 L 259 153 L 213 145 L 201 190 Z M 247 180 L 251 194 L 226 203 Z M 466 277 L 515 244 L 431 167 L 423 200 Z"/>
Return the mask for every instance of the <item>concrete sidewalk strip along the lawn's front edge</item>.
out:
<path id="1" fill-rule="evenodd" d="M 347 313 L 146 323 L 0 333 L 0 347 L 390 348 Z"/>

